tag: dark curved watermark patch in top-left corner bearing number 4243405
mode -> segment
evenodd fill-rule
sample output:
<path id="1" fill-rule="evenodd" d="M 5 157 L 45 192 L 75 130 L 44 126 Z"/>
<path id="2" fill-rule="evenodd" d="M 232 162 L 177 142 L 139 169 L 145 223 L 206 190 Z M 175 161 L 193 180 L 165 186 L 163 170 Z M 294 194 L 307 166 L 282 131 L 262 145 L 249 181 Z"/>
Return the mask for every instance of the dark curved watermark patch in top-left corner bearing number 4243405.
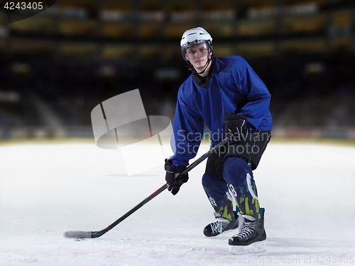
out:
<path id="1" fill-rule="evenodd" d="M 31 18 L 40 12 L 49 9 L 56 0 L 38 0 L 38 1 L 6 1 L 3 0 L 2 8 L 4 9 L 9 23 L 22 21 Z"/>

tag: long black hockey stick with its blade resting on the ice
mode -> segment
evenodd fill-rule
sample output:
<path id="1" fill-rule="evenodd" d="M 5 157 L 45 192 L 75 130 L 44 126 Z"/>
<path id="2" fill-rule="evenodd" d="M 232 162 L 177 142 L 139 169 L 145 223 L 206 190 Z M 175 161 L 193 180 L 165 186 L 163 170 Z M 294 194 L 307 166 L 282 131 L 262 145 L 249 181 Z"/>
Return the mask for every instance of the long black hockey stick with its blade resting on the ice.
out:
<path id="1" fill-rule="evenodd" d="M 202 155 L 200 158 L 195 160 L 195 162 L 192 162 L 192 164 L 189 165 L 184 171 L 180 172 L 179 176 L 182 175 L 182 174 L 186 174 L 187 172 L 190 172 L 193 168 L 195 168 L 197 165 L 199 165 L 200 162 L 202 162 L 204 159 L 209 157 L 209 155 L 211 155 L 212 153 L 217 151 L 217 149 L 219 149 L 222 145 L 224 145 L 227 142 L 229 142 L 229 140 L 231 140 L 231 136 L 227 135 L 227 137 L 224 138 L 224 140 L 222 140 L 220 143 L 215 145 L 214 148 L 209 149 L 206 153 L 204 153 L 204 155 Z M 121 221 L 124 221 L 124 219 L 126 219 L 128 216 L 130 216 L 135 211 L 140 209 L 143 205 L 147 204 L 149 201 L 154 199 L 155 196 L 158 196 L 158 194 L 163 192 L 166 188 L 167 188 L 167 185 L 164 184 L 163 187 L 160 187 L 160 189 L 158 189 L 155 192 L 153 192 L 153 194 L 148 196 L 146 199 L 143 199 L 143 201 L 141 201 L 139 204 L 134 206 L 130 211 L 128 211 L 126 214 L 124 214 L 123 216 L 118 218 L 116 221 L 114 221 L 114 223 L 111 223 L 109 226 L 107 226 L 107 228 L 104 228 L 101 231 L 66 231 L 64 233 L 64 237 L 65 238 L 99 238 L 104 233 L 107 233 L 112 228 L 114 228 L 116 225 L 121 223 Z"/>

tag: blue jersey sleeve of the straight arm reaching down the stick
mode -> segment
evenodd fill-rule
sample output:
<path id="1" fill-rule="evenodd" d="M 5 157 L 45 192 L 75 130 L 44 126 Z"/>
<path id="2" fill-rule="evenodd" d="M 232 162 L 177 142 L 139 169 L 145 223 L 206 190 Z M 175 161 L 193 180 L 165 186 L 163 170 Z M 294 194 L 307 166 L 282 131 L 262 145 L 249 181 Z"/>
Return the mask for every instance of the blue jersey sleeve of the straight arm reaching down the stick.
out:
<path id="1" fill-rule="evenodd" d="M 174 151 L 170 159 L 175 166 L 188 165 L 189 160 L 196 156 L 202 140 L 203 128 L 202 116 L 192 111 L 179 93 L 170 141 Z"/>

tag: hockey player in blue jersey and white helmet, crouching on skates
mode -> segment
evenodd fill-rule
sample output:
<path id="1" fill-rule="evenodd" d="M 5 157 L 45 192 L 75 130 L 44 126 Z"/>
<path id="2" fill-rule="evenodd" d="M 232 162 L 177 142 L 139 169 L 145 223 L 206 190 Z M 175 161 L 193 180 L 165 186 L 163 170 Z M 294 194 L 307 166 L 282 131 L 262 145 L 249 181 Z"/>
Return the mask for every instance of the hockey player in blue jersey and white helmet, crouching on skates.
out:
<path id="1" fill-rule="evenodd" d="M 178 92 L 171 141 L 175 154 L 165 160 L 168 190 L 175 195 L 187 182 L 187 174 L 178 174 L 195 157 L 204 123 L 212 133 L 212 147 L 231 134 L 232 141 L 209 156 L 202 177 L 216 218 L 203 233 L 210 237 L 238 228 L 239 215 L 244 222 L 229 239 L 231 253 L 263 252 L 264 209 L 259 206 L 252 171 L 271 138 L 271 95 L 242 57 L 214 57 L 212 37 L 204 28 L 185 31 L 180 47 L 192 74 Z"/>

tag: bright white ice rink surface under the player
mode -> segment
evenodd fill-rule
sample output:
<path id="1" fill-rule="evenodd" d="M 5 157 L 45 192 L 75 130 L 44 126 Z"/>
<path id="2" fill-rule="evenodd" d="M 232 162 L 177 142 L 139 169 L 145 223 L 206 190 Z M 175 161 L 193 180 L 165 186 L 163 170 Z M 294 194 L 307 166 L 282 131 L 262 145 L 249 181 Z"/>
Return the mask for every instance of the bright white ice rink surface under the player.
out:
<path id="1" fill-rule="evenodd" d="M 63 238 L 106 228 L 165 183 L 163 167 L 128 177 L 119 159 L 94 144 L 0 147 L 0 265 L 355 265 L 355 148 L 270 143 L 254 171 L 268 250 L 239 256 L 236 231 L 202 234 L 214 220 L 204 162 L 102 237 Z"/>

